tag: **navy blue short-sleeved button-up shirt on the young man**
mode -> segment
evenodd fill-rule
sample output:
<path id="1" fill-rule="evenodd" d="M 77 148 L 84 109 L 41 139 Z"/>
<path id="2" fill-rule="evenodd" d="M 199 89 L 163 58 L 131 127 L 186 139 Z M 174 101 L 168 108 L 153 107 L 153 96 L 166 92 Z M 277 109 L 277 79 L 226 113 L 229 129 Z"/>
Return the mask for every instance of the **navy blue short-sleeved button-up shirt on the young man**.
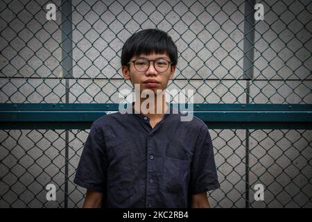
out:
<path id="1" fill-rule="evenodd" d="M 144 114 L 94 121 L 74 182 L 103 192 L 103 207 L 190 207 L 191 195 L 219 188 L 207 125 L 173 111 L 154 128 Z"/>

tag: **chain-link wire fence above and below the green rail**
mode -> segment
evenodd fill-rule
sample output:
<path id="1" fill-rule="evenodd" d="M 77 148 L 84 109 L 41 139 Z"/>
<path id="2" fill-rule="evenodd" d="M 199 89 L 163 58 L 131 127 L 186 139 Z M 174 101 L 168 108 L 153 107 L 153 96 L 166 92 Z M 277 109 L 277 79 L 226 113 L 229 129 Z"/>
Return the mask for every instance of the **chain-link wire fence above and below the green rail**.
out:
<path id="1" fill-rule="evenodd" d="M 56 20 L 46 19 L 49 3 Z M 194 103 L 311 104 L 311 15 L 310 0 L 1 1 L 0 103 L 120 103 L 132 89 L 123 43 L 159 28 L 179 51 L 168 89 L 193 89 Z M 73 176 L 88 133 L 0 130 L 0 207 L 81 207 Z M 210 133 L 221 185 L 212 207 L 312 207 L 311 130 Z M 50 183 L 55 201 L 46 200 Z"/>

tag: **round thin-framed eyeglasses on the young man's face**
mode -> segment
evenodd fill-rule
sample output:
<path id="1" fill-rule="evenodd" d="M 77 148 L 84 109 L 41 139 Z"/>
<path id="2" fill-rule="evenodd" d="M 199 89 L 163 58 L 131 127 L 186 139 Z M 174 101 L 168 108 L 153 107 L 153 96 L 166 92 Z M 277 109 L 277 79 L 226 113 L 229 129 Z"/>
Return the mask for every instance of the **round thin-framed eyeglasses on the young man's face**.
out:
<path id="1" fill-rule="evenodd" d="M 128 65 L 133 62 L 135 69 L 140 72 L 147 71 L 150 67 L 150 62 L 154 62 L 154 68 L 158 72 L 165 72 L 168 70 L 169 65 L 172 65 L 172 62 L 165 60 L 164 58 L 157 58 L 157 60 L 147 60 L 146 58 L 137 58 L 136 60 L 128 62 Z"/>

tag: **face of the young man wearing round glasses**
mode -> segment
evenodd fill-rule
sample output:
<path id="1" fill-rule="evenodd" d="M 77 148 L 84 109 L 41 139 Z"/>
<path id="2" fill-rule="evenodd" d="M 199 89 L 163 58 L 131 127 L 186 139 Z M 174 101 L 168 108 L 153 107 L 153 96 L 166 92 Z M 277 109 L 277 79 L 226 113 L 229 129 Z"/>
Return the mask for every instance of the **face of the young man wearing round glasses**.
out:
<path id="1" fill-rule="evenodd" d="M 123 71 L 123 77 L 125 79 L 128 79 L 131 81 L 132 85 L 135 86 L 135 84 L 140 85 L 140 91 L 144 89 L 152 89 L 155 93 L 157 89 L 166 89 L 168 85 L 168 81 L 170 79 L 173 79 L 173 74 L 175 73 L 175 66 L 172 66 L 169 64 L 169 67 L 164 72 L 159 72 L 162 69 L 162 66 L 164 63 L 162 63 L 161 60 L 158 60 L 157 64 L 155 64 L 155 67 L 158 67 L 158 71 L 154 67 L 154 62 L 150 61 L 150 65 L 146 71 L 141 71 L 140 65 L 144 64 L 142 63 L 142 60 L 137 60 L 138 58 L 145 58 L 146 60 L 157 60 L 159 58 L 163 58 L 164 60 L 167 60 L 171 62 L 170 58 L 166 54 L 150 54 L 150 55 L 143 55 L 140 56 L 134 56 L 130 60 L 129 69 L 126 66 L 122 67 Z M 136 65 L 137 68 L 139 67 L 139 71 L 135 68 L 134 60 L 137 60 Z"/>

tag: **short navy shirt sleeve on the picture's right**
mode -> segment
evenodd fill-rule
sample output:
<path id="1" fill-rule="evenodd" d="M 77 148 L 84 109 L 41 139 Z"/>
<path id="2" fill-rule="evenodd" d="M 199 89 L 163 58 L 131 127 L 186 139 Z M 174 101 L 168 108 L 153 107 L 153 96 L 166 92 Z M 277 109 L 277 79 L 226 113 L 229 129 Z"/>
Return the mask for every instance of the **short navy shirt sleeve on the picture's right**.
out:
<path id="1" fill-rule="evenodd" d="M 202 126 L 191 163 L 190 191 L 199 194 L 220 187 L 214 161 L 214 148 L 212 146 L 209 130 Z"/>

